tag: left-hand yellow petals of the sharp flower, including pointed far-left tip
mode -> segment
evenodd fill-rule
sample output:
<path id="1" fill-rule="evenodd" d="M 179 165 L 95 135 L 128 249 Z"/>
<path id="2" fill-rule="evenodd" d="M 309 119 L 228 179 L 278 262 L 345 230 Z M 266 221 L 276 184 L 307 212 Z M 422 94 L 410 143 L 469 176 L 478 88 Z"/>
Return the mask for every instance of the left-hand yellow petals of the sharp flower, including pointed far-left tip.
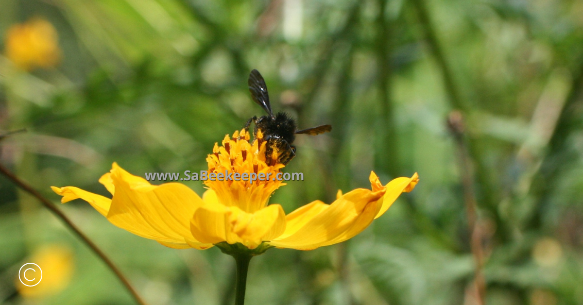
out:
<path id="1" fill-rule="evenodd" d="M 144 178 L 129 174 L 117 163 L 111 173 L 99 179 L 113 199 L 76 187 L 51 187 L 62 195 L 62 202 L 81 198 L 115 226 L 138 236 L 158 241 L 172 248 L 209 248 L 192 237 L 190 219 L 203 201 L 180 183 L 152 185 Z"/>

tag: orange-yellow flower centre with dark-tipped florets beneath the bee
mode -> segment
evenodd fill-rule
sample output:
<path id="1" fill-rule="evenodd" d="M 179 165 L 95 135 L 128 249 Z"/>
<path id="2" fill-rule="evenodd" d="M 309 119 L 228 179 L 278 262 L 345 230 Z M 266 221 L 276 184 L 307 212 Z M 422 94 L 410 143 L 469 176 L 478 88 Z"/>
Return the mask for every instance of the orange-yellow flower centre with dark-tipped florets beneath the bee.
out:
<path id="1" fill-rule="evenodd" d="M 221 146 L 215 143 L 213 153 L 206 157 L 209 179 L 205 185 L 216 192 L 221 204 L 253 213 L 264 208 L 273 191 L 285 185 L 276 179 L 285 165 L 277 162 L 268 165 L 266 144 L 261 131 L 250 143 L 250 134 L 245 129 L 235 131 L 233 136 L 225 135 Z M 212 174 L 215 181 L 210 179 Z"/>

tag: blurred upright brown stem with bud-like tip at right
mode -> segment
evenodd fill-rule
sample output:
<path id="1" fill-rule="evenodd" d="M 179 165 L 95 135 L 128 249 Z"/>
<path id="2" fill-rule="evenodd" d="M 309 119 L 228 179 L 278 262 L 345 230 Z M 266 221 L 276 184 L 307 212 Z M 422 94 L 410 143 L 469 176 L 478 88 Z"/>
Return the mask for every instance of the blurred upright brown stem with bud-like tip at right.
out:
<path id="1" fill-rule="evenodd" d="M 459 171 L 461 172 L 461 184 L 463 188 L 463 201 L 466 206 L 468 218 L 468 232 L 470 235 L 470 249 L 475 261 L 475 278 L 477 300 L 479 305 L 484 304 L 486 296 L 486 280 L 484 279 L 484 249 L 482 245 L 482 230 L 480 229 L 477 202 L 474 190 L 472 159 L 468 153 L 468 146 L 464 138 L 463 117 L 461 112 L 452 111 L 448 117 L 448 128 L 454 136 L 458 149 Z"/>

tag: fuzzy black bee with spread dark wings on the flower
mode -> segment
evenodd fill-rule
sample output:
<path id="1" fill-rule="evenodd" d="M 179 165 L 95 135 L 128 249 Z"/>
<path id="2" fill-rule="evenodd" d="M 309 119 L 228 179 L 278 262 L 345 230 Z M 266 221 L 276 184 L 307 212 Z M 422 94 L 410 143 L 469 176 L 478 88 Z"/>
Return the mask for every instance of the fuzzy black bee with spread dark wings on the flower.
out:
<path id="1" fill-rule="evenodd" d="M 271 104 L 269 104 L 269 94 L 267 85 L 259 71 L 253 69 L 249 74 L 249 91 L 255 103 L 259 104 L 268 115 L 262 117 L 252 117 L 247 121 L 245 129 L 249 130 L 251 122 L 255 123 L 253 136 L 257 138 L 257 132 L 261 130 L 263 140 L 267 141 L 265 149 L 265 160 L 268 164 L 272 162 L 287 164 L 296 156 L 296 146 L 292 145 L 296 139 L 296 134 L 319 135 L 332 130 L 331 125 L 320 125 L 308 129 L 297 130 L 296 121 L 287 113 L 279 112 L 273 115 Z M 273 150 L 279 153 L 277 160 L 272 158 Z"/>

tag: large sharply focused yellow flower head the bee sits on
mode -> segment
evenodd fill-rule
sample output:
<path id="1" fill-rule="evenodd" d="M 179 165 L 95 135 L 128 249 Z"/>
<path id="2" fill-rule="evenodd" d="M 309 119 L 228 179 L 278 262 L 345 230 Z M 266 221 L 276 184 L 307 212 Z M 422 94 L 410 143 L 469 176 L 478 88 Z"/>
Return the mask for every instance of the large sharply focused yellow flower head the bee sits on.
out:
<path id="1" fill-rule="evenodd" d="M 208 155 L 212 173 L 276 173 L 284 167 L 266 163 L 267 141 L 261 132 L 250 142 L 244 129 L 226 135 L 222 145 L 215 143 Z M 274 150 L 272 160 L 278 160 Z M 223 179 L 224 180 L 224 179 Z M 62 195 L 61 202 L 81 198 L 89 202 L 111 223 L 138 236 L 153 239 L 173 248 L 205 249 L 219 243 L 243 244 L 249 249 L 265 247 L 312 250 L 340 243 L 362 232 L 381 216 L 402 192 L 413 190 L 417 174 L 401 177 L 382 185 L 374 173 L 371 190 L 359 188 L 346 194 L 339 192 L 332 204 L 314 201 L 289 213 L 278 204 L 268 205 L 273 191 L 282 181 L 215 181 L 202 198 L 180 183 L 151 185 L 133 176 L 116 163 L 99 182 L 113 195 L 112 199 L 76 187 L 52 187 Z"/>

